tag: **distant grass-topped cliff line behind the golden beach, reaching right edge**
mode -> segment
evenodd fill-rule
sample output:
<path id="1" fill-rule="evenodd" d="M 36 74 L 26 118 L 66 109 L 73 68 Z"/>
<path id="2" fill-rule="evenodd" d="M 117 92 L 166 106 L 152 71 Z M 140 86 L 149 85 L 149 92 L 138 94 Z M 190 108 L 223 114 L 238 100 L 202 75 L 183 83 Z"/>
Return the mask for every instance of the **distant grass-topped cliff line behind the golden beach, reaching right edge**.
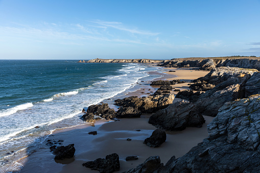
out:
<path id="1" fill-rule="evenodd" d="M 179 58 L 163 61 L 160 65 L 164 67 L 198 67 L 201 70 L 211 70 L 222 66 L 260 70 L 260 60 L 254 57 Z"/>

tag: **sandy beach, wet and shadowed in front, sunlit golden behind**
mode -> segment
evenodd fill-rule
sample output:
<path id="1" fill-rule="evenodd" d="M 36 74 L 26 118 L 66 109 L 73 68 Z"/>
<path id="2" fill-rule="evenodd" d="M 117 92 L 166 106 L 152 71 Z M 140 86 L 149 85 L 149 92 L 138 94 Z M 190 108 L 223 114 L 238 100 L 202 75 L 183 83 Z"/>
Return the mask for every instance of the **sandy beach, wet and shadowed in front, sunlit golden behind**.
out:
<path id="1" fill-rule="evenodd" d="M 165 72 L 160 79 L 183 79 L 191 81 L 205 76 L 208 71 L 196 71 L 191 69 L 176 69 L 176 72 Z M 161 72 L 160 72 L 161 74 Z M 158 80 L 158 79 L 156 79 Z M 158 87 L 151 87 L 150 81 L 140 83 L 143 89 L 127 95 L 145 96 Z M 173 85 L 176 89 L 187 89 L 188 83 Z M 144 93 L 141 93 L 144 92 Z M 175 92 L 176 94 L 177 92 Z M 179 101 L 175 98 L 174 102 Z M 204 116 L 206 122 L 202 128 L 186 128 L 180 132 L 167 132 L 167 140 L 160 147 L 154 148 L 143 144 L 156 129 L 148 123 L 150 114 L 143 114 L 140 118 L 122 118 L 118 121 L 99 120 L 88 125 L 62 129 L 53 132 L 49 140 L 64 140 L 63 145 L 74 143 L 75 157 L 64 159 L 56 163 L 54 155 L 48 145 L 43 143 L 41 148 L 19 162 L 24 165 L 21 172 L 99 172 L 83 167 L 82 163 L 93 161 L 97 158 L 105 158 L 106 155 L 116 153 L 120 157 L 120 171 L 126 171 L 143 163 L 150 156 L 160 156 L 161 162 L 166 163 L 172 156 L 176 158 L 190 151 L 197 143 L 202 142 L 208 136 L 207 125 L 213 117 Z M 136 131 L 140 130 L 140 131 Z M 88 132 L 97 131 L 97 135 L 89 135 Z M 132 139 L 131 141 L 126 140 Z M 46 139 L 46 140 L 48 140 Z M 138 160 L 125 161 L 127 156 L 138 156 Z"/>

